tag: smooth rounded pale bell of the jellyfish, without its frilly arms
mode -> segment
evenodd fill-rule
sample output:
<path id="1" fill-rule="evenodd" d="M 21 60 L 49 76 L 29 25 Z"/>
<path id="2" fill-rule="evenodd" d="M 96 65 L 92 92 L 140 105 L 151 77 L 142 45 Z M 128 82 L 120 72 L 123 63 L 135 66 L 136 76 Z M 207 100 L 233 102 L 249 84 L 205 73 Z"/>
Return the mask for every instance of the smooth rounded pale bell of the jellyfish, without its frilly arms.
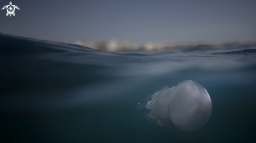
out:
<path id="1" fill-rule="evenodd" d="M 212 100 L 196 81 L 180 82 L 170 94 L 169 114 L 173 124 L 184 132 L 201 129 L 212 113 Z"/>

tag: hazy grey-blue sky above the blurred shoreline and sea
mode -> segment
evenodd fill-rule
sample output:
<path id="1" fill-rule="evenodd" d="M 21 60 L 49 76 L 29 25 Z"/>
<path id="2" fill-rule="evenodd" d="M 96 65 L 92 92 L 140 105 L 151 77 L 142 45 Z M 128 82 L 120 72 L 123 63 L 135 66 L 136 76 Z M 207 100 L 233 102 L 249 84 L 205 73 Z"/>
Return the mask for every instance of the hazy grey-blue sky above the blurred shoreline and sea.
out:
<path id="1" fill-rule="evenodd" d="M 0 0 L 0 7 L 12 0 Z M 255 0 L 13 0 L 0 10 L 0 32 L 74 43 L 256 40 Z"/>

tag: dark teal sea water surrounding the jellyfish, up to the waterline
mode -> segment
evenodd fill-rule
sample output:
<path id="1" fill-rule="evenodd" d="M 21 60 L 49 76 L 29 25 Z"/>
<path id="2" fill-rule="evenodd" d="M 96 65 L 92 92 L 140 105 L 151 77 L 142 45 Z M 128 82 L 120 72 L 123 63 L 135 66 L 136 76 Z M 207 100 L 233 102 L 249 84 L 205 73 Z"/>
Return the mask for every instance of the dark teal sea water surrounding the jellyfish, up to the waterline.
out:
<path id="1" fill-rule="evenodd" d="M 0 33 L 0 59 L 0 142 L 256 141 L 256 44 L 105 52 Z M 198 134 L 136 109 L 187 79 L 212 99 Z"/>

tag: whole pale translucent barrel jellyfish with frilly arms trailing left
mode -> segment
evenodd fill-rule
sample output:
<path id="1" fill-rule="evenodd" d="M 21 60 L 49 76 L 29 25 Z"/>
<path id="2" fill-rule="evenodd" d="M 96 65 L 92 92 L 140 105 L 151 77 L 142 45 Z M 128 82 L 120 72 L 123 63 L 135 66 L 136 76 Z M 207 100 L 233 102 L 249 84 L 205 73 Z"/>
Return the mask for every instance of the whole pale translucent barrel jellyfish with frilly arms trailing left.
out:
<path id="1" fill-rule="evenodd" d="M 209 120 L 212 100 L 206 89 L 196 81 L 184 80 L 177 86 L 163 87 L 154 93 L 146 108 L 150 118 L 160 126 L 196 132 Z"/>

